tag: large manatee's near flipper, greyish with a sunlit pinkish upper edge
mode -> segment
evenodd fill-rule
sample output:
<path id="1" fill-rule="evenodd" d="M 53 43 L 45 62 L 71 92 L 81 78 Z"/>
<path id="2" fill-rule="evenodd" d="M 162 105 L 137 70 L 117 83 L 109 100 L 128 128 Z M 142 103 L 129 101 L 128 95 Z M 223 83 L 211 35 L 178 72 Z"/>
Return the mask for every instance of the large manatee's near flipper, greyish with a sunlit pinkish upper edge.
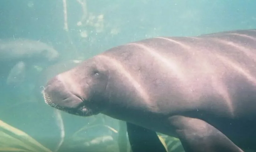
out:
<path id="1" fill-rule="evenodd" d="M 203 120 L 184 116 L 173 116 L 169 120 L 186 152 L 243 152 L 227 136 Z"/>

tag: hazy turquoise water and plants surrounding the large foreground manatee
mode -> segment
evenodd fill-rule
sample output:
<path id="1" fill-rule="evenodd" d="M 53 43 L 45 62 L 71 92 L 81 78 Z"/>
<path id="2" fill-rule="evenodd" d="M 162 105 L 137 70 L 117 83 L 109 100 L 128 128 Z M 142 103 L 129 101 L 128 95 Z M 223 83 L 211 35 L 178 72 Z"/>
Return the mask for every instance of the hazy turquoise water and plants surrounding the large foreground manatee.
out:
<path id="1" fill-rule="evenodd" d="M 124 122 L 45 104 L 47 80 L 128 42 L 256 29 L 255 8 L 255 0 L 0 0 L 0 151 L 130 151 Z M 183 151 L 178 139 L 159 138 Z"/>

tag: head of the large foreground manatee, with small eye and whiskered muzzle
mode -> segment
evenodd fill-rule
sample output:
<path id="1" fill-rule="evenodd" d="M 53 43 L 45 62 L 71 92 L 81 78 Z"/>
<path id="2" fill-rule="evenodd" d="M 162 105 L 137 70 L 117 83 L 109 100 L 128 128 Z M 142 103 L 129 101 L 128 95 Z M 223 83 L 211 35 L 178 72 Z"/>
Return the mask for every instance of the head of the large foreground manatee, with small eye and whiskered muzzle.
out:
<path id="1" fill-rule="evenodd" d="M 43 90 L 45 102 L 59 110 L 90 116 L 103 112 L 109 104 L 109 71 L 97 58 L 50 79 Z"/>

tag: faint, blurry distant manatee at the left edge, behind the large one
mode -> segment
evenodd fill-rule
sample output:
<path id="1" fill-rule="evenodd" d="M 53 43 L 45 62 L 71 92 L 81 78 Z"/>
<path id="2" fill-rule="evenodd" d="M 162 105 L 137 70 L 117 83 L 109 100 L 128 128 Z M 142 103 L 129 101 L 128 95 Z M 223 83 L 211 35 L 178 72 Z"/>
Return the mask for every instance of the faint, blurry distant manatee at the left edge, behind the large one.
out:
<path id="1" fill-rule="evenodd" d="M 8 85 L 24 81 L 26 68 L 35 64 L 49 65 L 58 59 L 58 52 L 48 44 L 29 39 L 0 40 L 0 70 Z M 3 75 L 8 73 L 8 75 Z"/>

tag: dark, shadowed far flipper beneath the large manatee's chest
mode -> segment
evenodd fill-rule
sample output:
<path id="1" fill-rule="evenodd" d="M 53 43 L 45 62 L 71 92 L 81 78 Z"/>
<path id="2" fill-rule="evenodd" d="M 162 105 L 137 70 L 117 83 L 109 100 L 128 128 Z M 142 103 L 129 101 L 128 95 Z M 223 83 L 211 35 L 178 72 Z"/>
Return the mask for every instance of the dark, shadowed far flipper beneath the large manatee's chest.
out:
<path id="1" fill-rule="evenodd" d="M 133 152 L 166 152 L 155 131 L 128 122 L 126 125 Z"/>

